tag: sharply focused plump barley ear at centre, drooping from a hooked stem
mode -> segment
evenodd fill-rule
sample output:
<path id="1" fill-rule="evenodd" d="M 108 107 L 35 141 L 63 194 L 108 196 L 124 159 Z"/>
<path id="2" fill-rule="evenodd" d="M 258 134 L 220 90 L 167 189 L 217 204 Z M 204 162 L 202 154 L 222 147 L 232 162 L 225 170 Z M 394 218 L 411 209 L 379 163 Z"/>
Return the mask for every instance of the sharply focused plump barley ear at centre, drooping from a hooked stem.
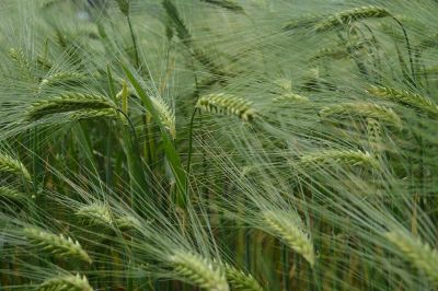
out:
<path id="1" fill-rule="evenodd" d="M 224 93 L 204 95 L 196 107 L 216 114 L 235 115 L 243 121 L 252 121 L 257 115 L 251 102 Z"/>

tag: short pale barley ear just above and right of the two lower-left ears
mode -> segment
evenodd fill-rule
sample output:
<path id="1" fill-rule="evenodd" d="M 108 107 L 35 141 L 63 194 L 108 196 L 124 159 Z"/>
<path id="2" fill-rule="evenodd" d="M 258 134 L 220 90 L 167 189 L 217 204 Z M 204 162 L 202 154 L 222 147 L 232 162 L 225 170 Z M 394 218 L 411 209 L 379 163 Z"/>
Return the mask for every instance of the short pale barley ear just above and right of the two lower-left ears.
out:
<path id="1" fill-rule="evenodd" d="M 113 218 L 110 208 L 103 203 L 83 206 L 76 211 L 76 216 L 90 225 L 113 226 Z"/>

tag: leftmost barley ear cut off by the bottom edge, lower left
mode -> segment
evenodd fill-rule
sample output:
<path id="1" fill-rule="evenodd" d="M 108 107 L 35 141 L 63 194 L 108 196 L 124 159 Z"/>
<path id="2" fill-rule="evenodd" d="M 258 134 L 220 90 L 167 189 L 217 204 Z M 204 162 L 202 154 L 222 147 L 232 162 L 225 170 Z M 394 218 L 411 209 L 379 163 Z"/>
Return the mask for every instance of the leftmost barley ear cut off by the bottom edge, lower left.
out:
<path id="1" fill-rule="evenodd" d="M 85 276 L 79 273 L 58 276 L 45 280 L 38 291 L 93 291 Z"/>

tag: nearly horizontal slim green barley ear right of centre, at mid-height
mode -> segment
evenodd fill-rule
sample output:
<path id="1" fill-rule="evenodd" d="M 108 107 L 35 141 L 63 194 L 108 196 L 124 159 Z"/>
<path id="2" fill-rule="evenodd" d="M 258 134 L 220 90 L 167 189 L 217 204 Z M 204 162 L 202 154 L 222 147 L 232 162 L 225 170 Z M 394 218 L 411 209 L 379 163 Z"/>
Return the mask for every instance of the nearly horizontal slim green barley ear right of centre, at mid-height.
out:
<path id="1" fill-rule="evenodd" d="M 368 152 L 354 150 L 324 150 L 301 156 L 299 163 L 304 167 L 322 165 L 367 166 L 379 170 L 378 161 Z"/>

